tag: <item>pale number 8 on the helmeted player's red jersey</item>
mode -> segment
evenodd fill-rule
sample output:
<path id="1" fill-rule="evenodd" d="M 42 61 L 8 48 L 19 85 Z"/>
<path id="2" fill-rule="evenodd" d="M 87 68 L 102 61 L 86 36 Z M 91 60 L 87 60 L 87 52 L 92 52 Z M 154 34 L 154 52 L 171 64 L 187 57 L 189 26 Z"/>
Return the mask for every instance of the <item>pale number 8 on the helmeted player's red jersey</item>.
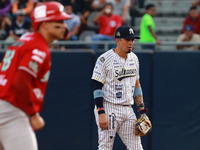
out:
<path id="1" fill-rule="evenodd" d="M 3 59 L 3 66 L 1 68 L 1 71 L 6 71 L 10 67 L 11 60 L 14 57 L 14 55 L 15 55 L 15 51 L 11 51 L 11 50 L 6 51 L 5 57 Z"/>

